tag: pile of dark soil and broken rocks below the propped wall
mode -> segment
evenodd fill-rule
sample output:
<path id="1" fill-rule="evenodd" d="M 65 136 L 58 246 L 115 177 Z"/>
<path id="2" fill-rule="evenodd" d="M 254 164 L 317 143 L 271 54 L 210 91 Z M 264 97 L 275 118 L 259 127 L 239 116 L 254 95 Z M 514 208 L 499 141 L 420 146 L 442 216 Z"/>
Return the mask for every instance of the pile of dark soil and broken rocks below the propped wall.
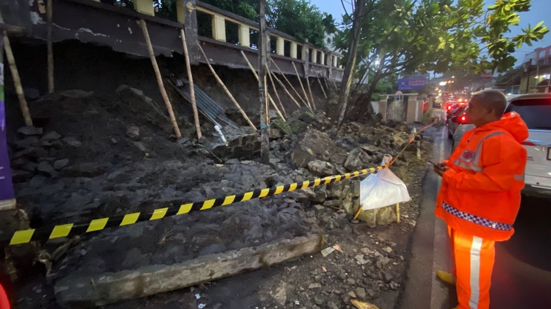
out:
<path id="1" fill-rule="evenodd" d="M 120 87 L 113 98 L 72 91 L 31 104 L 36 128 L 14 130 L 9 141 L 18 202 L 30 209 L 36 226 L 151 211 L 166 203 L 199 202 L 354 172 L 379 165 L 385 153 L 396 156 L 409 138 L 409 130 L 401 124 L 387 126 L 370 119 L 337 130 L 322 112 L 295 111 L 287 122 L 273 118 L 268 129 L 270 162 L 264 165 L 251 161 L 260 148 L 256 132 L 225 129 L 226 146 L 212 124 L 202 125 L 206 138 L 197 141 L 193 125 L 187 123 L 182 128 L 184 139 L 176 141 L 163 109 L 129 87 Z M 179 119 L 189 121 L 183 115 Z M 391 167 L 408 187 L 420 186 L 426 167 L 413 151 L 415 145 Z M 352 220 L 359 207 L 361 179 L 106 229 L 80 239 L 54 261 L 49 279 L 179 263 L 320 233 L 319 226 L 328 234 L 329 245 L 335 239 L 346 244 L 343 238 L 363 236 L 348 240 L 344 253 L 323 257 L 325 271 L 306 263 L 300 273 L 274 274 L 259 285 L 262 304 L 341 308 L 351 298 L 371 299 L 399 288 L 394 278 L 403 271 L 407 252 L 405 244 L 395 248 L 394 242 L 366 230 L 395 221 L 393 207 L 364 211 L 360 219 L 367 224 Z M 405 225 L 397 229 L 406 231 L 415 225 L 419 197 L 412 196 L 413 206 L 402 210 Z M 305 280 L 309 284 L 301 284 Z M 201 301 L 211 297 L 217 303 L 218 296 L 202 293 Z M 137 304 L 132 306 L 145 303 Z"/>

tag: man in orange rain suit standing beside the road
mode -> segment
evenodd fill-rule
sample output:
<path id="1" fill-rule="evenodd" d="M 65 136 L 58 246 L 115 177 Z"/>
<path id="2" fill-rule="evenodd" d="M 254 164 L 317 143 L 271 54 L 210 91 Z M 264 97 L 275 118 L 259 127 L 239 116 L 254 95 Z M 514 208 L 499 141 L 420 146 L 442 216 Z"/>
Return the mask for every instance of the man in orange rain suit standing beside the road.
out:
<path id="1" fill-rule="evenodd" d="M 477 92 L 464 134 L 449 161 L 434 167 L 442 176 L 436 216 L 448 225 L 455 267 L 436 274 L 456 284 L 458 309 L 488 309 L 494 242 L 507 240 L 520 207 L 528 128 L 516 113 L 503 114 L 507 100 L 495 90 Z"/>

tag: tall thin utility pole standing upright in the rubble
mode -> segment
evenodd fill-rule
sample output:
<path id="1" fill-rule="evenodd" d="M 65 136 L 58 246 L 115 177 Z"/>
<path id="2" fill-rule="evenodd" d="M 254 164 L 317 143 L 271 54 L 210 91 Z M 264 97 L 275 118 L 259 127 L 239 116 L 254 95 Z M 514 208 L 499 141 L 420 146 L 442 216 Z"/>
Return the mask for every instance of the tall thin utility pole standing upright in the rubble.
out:
<path id="1" fill-rule="evenodd" d="M 260 44 L 258 45 L 258 97 L 260 98 L 260 161 L 269 164 L 268 111 L 266 109 L 266 68 L 268 65 L 268 43 L 266 33 L 266 16 L 264 10 L 266 0 L 260 0 Z"/>

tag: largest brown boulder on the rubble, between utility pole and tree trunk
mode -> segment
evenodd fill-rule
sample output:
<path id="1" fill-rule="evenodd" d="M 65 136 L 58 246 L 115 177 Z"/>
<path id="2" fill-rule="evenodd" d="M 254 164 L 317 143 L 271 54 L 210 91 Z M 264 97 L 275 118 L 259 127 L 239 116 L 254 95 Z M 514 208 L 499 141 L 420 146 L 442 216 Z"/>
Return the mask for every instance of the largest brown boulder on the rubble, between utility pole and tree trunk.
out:
<path id="1" fill-rule="evenodd" d="M 307 168 L 312 160 L 343 165 L 346 157 L 346 152 L 338 147 L 329 135 L 317 130 L 309 130 L 296 143 L 291 161 L 296 167 Z"/>

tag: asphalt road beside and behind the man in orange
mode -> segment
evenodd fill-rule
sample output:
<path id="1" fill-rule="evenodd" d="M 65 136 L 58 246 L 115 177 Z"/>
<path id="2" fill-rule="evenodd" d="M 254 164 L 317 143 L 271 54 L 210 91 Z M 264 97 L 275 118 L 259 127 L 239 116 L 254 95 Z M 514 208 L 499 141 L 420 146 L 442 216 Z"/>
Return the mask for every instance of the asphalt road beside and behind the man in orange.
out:
<path id="1" fill-rule="evenodd" d="M 435 137 L 433 159 L 449 157 L 451 145 L 444 128 Z M 446 225 L 434 218 L 439 178 L 427 173 L 424 186 L 408 282 L 396 308 L 450 309 L 457 305 L 455 289 L 435 278 L 437 269 L 449 270 L 452 266 Z M 549 309 L 551 198 L 523 197 L 514 228 L 509 241 L 496 243 L 490 309 Z"/>

